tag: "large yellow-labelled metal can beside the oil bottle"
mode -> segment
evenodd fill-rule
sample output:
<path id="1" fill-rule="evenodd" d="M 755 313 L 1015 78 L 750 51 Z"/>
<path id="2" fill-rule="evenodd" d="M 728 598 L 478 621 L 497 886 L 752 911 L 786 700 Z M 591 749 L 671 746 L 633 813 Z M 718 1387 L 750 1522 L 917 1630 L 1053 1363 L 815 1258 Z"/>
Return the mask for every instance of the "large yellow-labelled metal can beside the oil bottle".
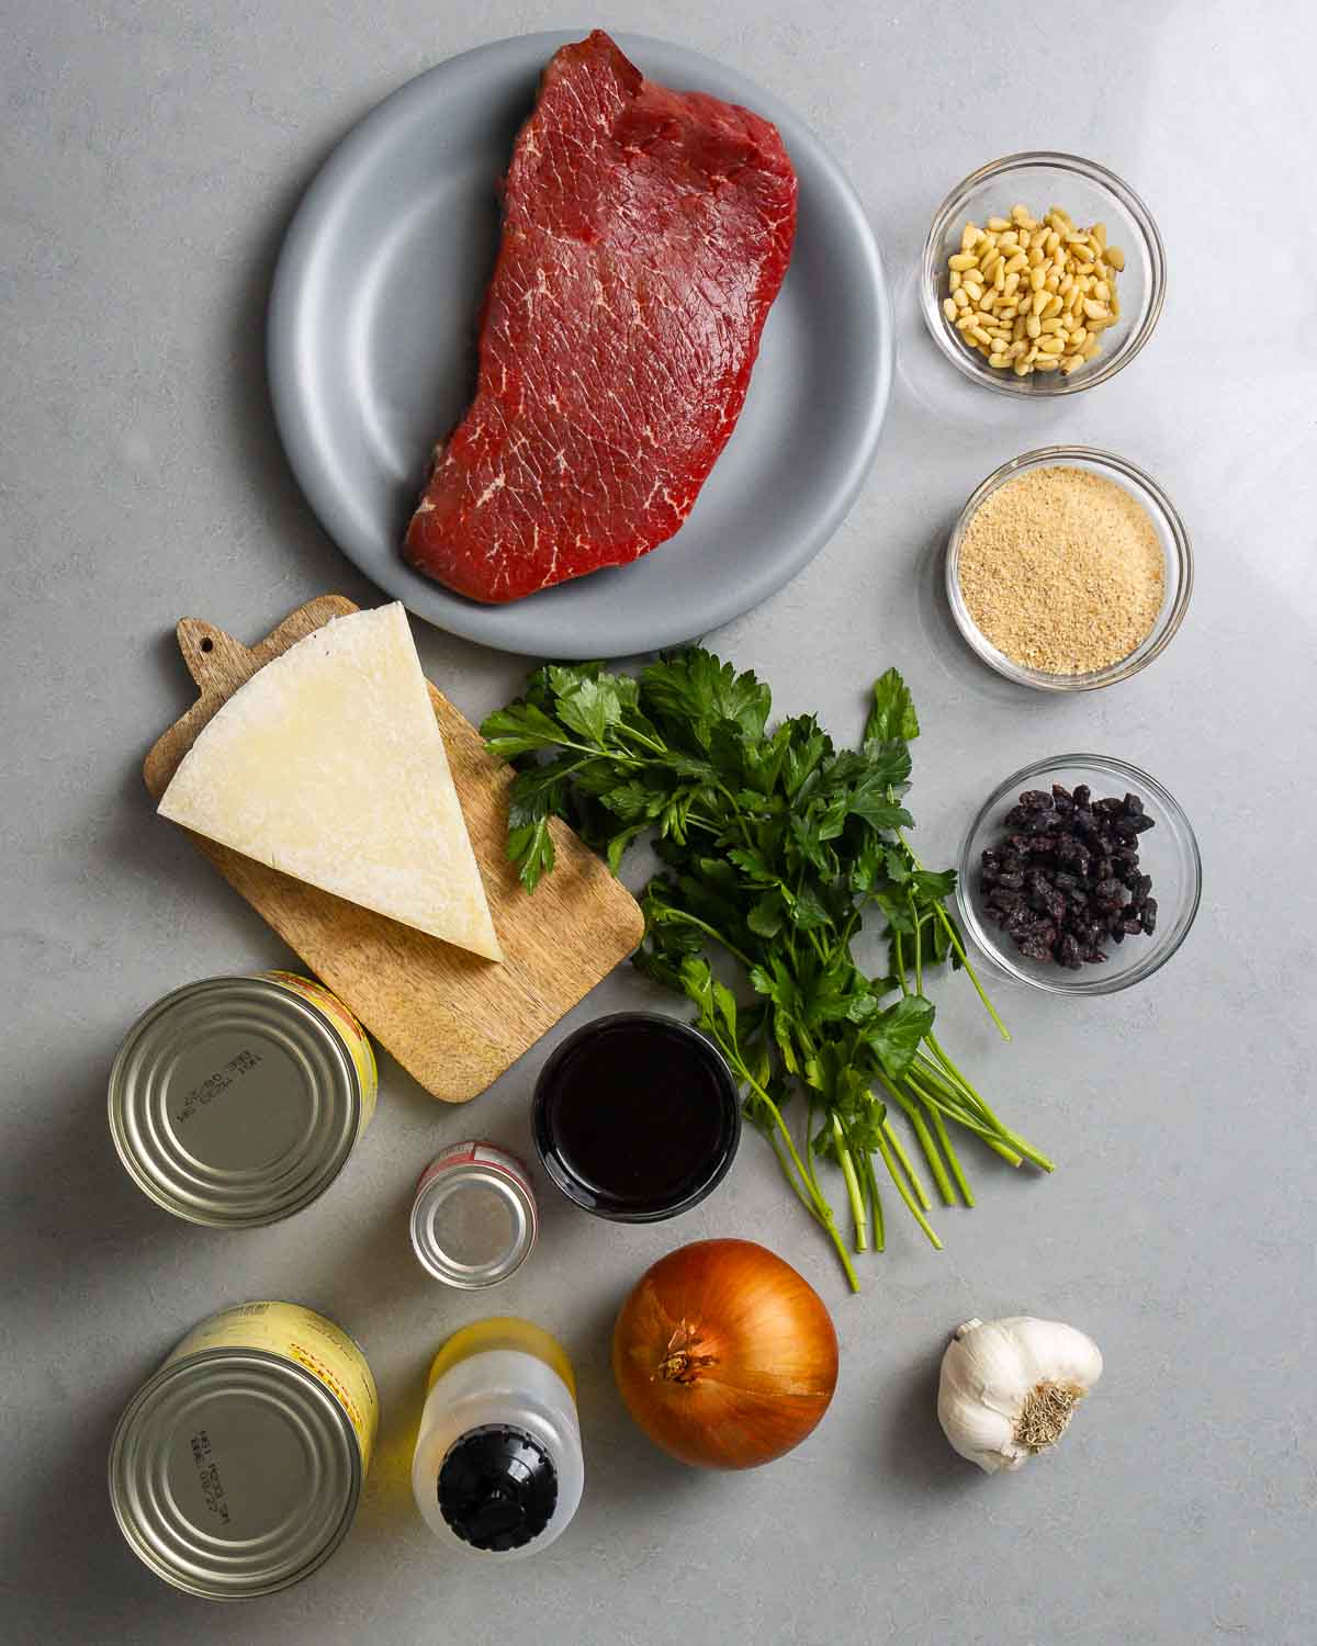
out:
<path id="1" fill-rule="evenodd" d="M 110 1503 L 166 1583 L 245 1600 L 342 1542 L 379 1424 L 357 1343 L 301 1304 L 240 1304 L 194 1327 L 128 1402 Z"/>

